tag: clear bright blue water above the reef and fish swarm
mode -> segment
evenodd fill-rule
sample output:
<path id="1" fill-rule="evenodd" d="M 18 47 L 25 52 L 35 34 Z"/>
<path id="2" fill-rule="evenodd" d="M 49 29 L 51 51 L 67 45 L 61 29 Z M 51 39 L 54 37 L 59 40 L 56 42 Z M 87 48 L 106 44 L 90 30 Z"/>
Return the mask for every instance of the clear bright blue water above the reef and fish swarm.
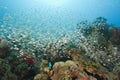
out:
<path id="1" fill-rule="evenodd" d="M 119 3 L 120 0 L 0 0 L 0 21 L 6 13 L 25 14 L 33 24 L 41 22 L 50 28 L 71 30 L 81 20 L 93 21 L 102 16 L 108 23 L 120 26 Z"/>

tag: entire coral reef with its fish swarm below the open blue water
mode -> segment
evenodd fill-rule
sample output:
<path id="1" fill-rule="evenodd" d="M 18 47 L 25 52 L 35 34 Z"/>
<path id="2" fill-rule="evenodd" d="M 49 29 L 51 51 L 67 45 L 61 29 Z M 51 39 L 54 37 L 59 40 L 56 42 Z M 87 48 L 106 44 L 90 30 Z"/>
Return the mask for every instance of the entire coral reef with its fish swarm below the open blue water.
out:
<path id="1" fill-rule="evenodd" d="M 120 79 L 120 28 L 105 18 L 82 21 L 59 38 L 11 26 L 0 26 L 0 80 Z"/>

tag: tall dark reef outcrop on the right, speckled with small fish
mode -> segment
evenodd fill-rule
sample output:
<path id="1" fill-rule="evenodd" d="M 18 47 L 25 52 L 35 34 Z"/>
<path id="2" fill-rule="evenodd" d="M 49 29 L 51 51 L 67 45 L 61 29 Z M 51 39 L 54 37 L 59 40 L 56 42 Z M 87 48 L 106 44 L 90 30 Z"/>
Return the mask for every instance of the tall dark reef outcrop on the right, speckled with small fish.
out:
<path id="1" fill-rule="evenodd" d="M 78 28 L 78 32 L 83 34 L 84 40 L 78 40 L 81 41 L 86 56 L 112 71 L 120 60 L 119 27 L 109 25 L 103 17 L 97 18 L 92 24 L 82 22 L 78 27 L 81 26 L 85 27 Z"/>

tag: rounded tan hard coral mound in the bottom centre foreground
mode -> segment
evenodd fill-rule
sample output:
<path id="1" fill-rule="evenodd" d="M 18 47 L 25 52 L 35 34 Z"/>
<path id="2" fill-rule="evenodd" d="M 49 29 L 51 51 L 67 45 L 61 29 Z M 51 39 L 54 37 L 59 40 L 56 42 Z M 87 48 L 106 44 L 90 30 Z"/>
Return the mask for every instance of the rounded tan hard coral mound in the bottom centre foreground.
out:
<path id="1" fill-rule="evenodd" d="M 74 61 L 56 62 L 53 65 L 52 80 L 87 80 L 87 76 L 80 72 L 78 65 Z"/>

